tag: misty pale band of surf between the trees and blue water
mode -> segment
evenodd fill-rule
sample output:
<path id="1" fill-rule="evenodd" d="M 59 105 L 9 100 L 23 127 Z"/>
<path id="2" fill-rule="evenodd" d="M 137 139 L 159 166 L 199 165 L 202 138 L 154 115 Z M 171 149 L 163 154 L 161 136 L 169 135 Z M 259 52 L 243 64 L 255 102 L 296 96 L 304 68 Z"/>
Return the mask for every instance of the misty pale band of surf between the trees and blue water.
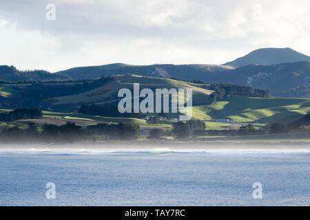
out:
<path id="1" fill-rule="evenodd" d="M 63 143 L 16 143 L 0 144 L 0 151 L 3 149 L 109 149 L 109 150 L 149 150 L 163 149 L 169 150 L 214 150 L 214 149 L 236 149 L 236 150 L 298 150 L 306 149 L 310 151 L 310 142 L 197 142 L 197 141 L 109 141 L 109 142 L 75 142 L 71 144 Z M 1 152 L 0 152 L 1 153 Z"/>

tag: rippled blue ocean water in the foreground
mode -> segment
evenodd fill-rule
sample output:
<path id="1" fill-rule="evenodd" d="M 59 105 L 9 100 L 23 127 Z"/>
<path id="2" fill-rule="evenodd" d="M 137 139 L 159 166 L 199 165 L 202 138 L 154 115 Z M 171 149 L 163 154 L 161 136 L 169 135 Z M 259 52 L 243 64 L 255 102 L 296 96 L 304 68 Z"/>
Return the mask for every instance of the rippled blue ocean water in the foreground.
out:
<path id="1" fill-rule="evenodd" d="M 309 206 L 309 177 L 307 148 L 0 149 L 1 206 Z"/>

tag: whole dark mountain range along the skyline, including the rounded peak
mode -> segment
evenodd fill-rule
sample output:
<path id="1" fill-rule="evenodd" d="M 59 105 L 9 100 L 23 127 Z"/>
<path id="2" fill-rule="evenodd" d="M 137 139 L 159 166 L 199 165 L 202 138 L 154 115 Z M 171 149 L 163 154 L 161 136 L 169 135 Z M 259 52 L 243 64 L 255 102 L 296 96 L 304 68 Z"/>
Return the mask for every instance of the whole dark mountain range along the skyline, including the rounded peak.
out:
<path id="1" fill-rule="evenodd" d="M 74 67 L 51 74 L 43 70 L 21 72 L 15 67 L 0 66 L 0 80 L 12 82 L 25 80 L 85 80 L 96 79 L 101 76 L 115 75 L 139 75 L 155 78 L 172 78 L 179 80 L 204 82 L 204 83 L 234 83 L 246 85 L 257 89 L 267 89 L 273 96 L 280 97 L 310 97 L 310 57 L 290 48 L 262 48 L 251 52 L 256 58 L 256 54 L 276 56 L 269 63 L 271 65 L 255 64 L 263 60 L 256 59 L 254 63 L 242 65 L 241 67 L 231 67 L 229 65 L 173 65 L 173 64 L 153 64 L 153 65 L 128 65 L 125 63 L 112 63 L 108 65 L 97 65 L 88 67 Z M 291 60 L 290 54 L 295 58 Z M 252 56 L 251 55 L 251 56 Z M 249 54 L 241 58 L 247 58 Z M 264 55 L 264 59 L 268 59 Z M 253 58 L 252 57 L 252 58 Z M 297 57 L 297 58 L 296 58 Z M 301 57 L 301 58 L 298 58 Z M 309 61 L 298 61 L 308 59 Z M 237 60 L 238 60 L 237 59 Z M 287 61 L 276 63 L 276 61 Z M 240 60 L 239 60 L 240 61 Z M 247 59 L 249 61 L 249 59 Z M 234 61 L 233 61 L 234 62 Z M 227 64 L 227 63 L 226 63 Z M 229 62 L 228 64 L 231 64 Z"/>

